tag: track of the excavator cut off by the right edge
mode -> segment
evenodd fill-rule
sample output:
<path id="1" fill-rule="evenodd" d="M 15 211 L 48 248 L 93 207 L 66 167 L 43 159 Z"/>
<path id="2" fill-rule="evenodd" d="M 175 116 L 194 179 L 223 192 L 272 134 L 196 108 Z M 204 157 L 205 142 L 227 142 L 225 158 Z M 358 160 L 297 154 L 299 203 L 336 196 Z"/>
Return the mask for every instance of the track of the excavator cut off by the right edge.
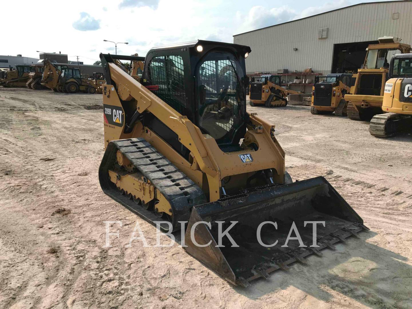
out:
<path id="1" fill-rule="evenodd" d="M 412 116 L 393 112 L 375 115 L 370 120 L 369 133 L 376 137 L 389 137 L 412 129 Z"/>

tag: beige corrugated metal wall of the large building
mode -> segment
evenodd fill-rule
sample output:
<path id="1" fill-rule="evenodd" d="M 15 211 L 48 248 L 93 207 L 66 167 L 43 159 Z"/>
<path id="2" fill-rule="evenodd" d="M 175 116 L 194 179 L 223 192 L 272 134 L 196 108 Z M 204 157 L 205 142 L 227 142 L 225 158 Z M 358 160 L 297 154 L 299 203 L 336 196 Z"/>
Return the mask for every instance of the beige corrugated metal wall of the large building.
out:
<path id="1" fill-rule="evenodd" d="M 392 19 L 393 13 L 399 13 L 399 19 Z M 328 38 L 318 39 L 319 28 L 329 28 Z M 309 67 L 327 74 L 331 73 L 333 44 L 372 41 L 385 35 L 412 44 L 412 1 L 357 5 L 235 35 L 233 39 L 235 44 L 252 49 L 246 59 L 248 74 Z"/>

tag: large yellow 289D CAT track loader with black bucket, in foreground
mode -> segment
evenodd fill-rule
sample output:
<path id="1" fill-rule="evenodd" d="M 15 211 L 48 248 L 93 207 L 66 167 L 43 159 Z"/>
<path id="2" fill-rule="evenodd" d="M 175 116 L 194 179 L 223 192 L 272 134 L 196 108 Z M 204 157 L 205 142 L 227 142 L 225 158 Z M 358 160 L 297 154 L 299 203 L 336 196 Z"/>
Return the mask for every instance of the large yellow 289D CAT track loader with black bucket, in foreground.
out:
<path id="1" fill-rule="evenodd" d="M 103 192 L 162 231 L 185 233 L 187 253 L 241 286 L 368 229 L 325 178 L 292 183 L 275 126 L 246 112 L 248 53 L 199 40 L 145 59 L 100 55 Z M 144 61 L 142 82 L 117 59 Z M 307 221 L 325 222 L 315 240 Z M 302 243 L 285 246 L 291 227 Z"/>

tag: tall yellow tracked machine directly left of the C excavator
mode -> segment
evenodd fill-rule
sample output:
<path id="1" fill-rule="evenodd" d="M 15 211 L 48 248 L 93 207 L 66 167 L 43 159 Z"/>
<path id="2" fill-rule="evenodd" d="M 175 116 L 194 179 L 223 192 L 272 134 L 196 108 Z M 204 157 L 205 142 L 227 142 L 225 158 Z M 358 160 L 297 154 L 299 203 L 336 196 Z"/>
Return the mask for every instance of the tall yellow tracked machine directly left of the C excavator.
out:
<path id="1" fill-rule="evenodd" d="M 379 37 L 379 44 L 370 44 L 363 68 L 358 69 L 355 86 L 348 101 L 347 114 L 350 119 L 370 120 L 382 112 L 384 85 L 388 80 L 391 54 L 410 52 L 411 46 L 394 37 Z"/>

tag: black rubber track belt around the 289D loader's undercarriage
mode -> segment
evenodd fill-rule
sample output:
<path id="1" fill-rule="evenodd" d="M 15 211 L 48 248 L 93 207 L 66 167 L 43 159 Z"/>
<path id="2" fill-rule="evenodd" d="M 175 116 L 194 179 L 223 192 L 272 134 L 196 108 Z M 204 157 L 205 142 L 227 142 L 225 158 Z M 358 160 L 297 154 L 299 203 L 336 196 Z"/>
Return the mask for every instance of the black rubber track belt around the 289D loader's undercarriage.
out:
<path id="1" fill-rule="evenodd" d="M 106 148 L 99 168 L 99 181 L 102 190 L 147 222 L 156 225 L 155 221 L 162 221 L 162 219 L 159 219 L 154 211 L 143 208 L 130 197 L 119 193 L 116 185 L 110 180 L 109 170 L 116 163 L 118 150 L 129 159 L 133 168 L 150 180 L 150 183 L 155 186 L 155 190 L 158 190 L 167 199 L 173 214 L 173 230 L 180 228 L 178 221 L 189 220 L 193 206 L 207 203 L 201 188 L 144 138 L 112 140 Z M 161 224 L 160 227 L 164 232 L 169 231 L 167 224 Z"/>

